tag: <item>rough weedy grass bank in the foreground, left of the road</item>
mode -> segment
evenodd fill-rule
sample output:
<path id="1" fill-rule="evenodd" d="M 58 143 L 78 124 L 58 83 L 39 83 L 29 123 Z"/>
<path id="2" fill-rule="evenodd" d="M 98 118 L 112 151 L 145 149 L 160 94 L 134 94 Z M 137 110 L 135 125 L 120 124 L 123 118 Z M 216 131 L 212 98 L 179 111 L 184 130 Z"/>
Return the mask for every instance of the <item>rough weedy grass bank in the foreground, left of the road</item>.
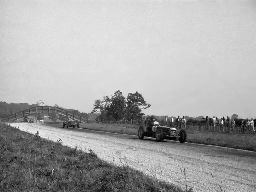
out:
<path id="1" fill-rule="evenodd" d="M 39 134 L 0 124 L 0 191 L 183 192 L 125 164 L 102 161 L 92 150 Z"/>

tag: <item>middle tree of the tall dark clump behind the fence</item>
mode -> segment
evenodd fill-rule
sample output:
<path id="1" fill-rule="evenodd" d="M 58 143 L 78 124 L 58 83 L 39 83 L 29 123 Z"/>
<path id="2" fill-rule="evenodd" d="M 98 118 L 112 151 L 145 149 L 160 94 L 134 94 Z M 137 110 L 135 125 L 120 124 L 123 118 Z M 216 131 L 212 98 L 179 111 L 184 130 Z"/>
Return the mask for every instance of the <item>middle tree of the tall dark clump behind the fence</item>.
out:
<path id="1" fill-rule="evenodd" d="M 125 116 L 126 101 L 123 93 L 119 90 L 115 91 L 114 96 L 111 98 L 111 104 L 106 108 L 107 115 L 112 115 L 113 119 L 118 121 Z"/>

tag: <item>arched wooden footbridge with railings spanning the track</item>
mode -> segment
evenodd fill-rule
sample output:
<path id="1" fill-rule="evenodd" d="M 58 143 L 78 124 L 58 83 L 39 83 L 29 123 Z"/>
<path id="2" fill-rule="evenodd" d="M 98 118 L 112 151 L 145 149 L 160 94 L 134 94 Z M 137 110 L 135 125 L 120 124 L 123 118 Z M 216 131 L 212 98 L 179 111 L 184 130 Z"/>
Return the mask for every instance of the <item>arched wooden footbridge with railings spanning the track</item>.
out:
<path id="1" fill-rule="evenodd" d="M 42 113 L 42 114 L 61 114 L 67 117 L 73 117 L 73 119 L 80 121 L 80 123 L 88 123 L 88 118 L 82 117 L 80 115 L 77 115 L 75 113 L 72 113 L 70 111 L 64 110 L 60 107 L 52 107 L 52 106 L 36 106 L 32 107 L 11 115 L 7 115 L 5 117 L 0 118 L 0 121 L 14 121 L 16 119 L 24 118 L 25 122 L 25 117 L 37 113 Z"/>

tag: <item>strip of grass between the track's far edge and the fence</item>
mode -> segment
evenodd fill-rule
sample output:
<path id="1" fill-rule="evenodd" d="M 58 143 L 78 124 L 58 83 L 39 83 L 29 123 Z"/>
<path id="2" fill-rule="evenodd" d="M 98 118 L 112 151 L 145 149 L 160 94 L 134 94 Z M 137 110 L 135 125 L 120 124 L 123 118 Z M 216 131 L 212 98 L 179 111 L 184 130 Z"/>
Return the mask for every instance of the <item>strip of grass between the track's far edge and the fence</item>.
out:
<path id="1" fill-rule="evenodd" d="M 45 124 L 48 126 L 62 127 L 62 123 Z M 138 135 L 138 125 L 129 124 L 99 124 L 81 123 L 80 128 L 104 131 L 111 133 L 121 133 L 127 135 Z M 187 130 L 189 143 L 199 143 L 205 145 L 215 145 L 234 149 L 244 149 L 256 151 L 256 135 L 220 133 L 211 131 L 190 131 Z"/>

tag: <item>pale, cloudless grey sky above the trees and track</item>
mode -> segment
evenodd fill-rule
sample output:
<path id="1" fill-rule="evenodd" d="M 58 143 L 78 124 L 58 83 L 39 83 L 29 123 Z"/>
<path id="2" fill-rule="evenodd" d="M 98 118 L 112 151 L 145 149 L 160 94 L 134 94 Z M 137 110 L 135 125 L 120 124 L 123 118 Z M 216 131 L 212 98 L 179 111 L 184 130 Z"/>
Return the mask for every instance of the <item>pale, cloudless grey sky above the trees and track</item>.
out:
<path id="1" fill-rule="evenodd" d="M 91 112 L 256 117 L 254 0 L 1 0 L 0 101 Z"/>

